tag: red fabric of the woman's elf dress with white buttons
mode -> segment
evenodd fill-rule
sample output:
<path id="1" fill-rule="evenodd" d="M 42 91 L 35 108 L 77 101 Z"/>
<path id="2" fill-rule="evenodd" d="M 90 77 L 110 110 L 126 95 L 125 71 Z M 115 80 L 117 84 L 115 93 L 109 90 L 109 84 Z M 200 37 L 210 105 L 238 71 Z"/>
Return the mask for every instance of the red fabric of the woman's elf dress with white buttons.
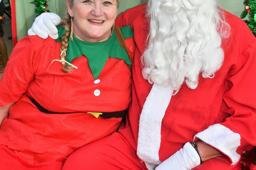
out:
<path id="1" fill-rule="evenodd" d="M 125 41 L 133 56 L 132 37 Z M 72 61 L 78 69 L 64 73 L 61 63 L 50 64 L 59 59 L 60 46 L 51 38 L 27 36 L 13 49 L 0 80 L 0 105 L 16 102 L 0 126 L 1 170 L 60 170 L 74 150 L 117 131 L 121 123 L 121 117 L 86 112 L 127 109 L 131 72 L 126 62 L 109 57 L 95 80 L 82 55 Z M 40 112 L 30 98 L 59 114 Z"/>

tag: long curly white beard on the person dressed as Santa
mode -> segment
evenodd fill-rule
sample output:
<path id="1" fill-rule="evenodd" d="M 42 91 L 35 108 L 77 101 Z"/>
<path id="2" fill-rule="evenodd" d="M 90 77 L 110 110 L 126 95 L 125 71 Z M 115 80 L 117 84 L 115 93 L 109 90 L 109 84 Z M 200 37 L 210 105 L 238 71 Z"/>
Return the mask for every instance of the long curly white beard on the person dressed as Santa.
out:
<path id="1" fill-rule="evenodd" d="M 150 83 L 195 89 L 199 74 L 210 78 L 220 69 L 221 39 L 230 36 L 216 0 L 149 0 L 149 45 L 142 74 Z"/>

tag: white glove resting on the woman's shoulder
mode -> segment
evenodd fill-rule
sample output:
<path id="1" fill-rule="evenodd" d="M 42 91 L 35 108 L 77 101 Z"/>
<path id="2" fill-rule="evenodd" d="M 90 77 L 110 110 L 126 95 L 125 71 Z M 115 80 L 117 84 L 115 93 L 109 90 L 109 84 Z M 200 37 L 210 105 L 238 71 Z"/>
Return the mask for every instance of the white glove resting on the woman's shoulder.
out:
<path id="1" fill-rule="evenodd" d="M 57 39 L 58 30 L 56 26 L 61 22 L 61 18 L 55 13 L 42 13 L 36 17 L 32 27 L 28 30 L 28 35 L 37 35 L 43 39 L 50 36 L 52 39 Z"/>

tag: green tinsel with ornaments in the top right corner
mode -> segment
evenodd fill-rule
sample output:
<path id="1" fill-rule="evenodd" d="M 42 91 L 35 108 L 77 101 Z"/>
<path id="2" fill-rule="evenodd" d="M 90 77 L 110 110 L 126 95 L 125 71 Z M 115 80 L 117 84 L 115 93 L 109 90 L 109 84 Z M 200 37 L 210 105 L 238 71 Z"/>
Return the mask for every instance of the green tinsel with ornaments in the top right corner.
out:
<path id="1" fill-rule="evenodd" d="M 245 7 L 241 18 L 244 19 L 247 15 L 249 16 L 249 19 L 244 21 L 256 37 L 256 0 L 245 0 L 244 6 Z"/>

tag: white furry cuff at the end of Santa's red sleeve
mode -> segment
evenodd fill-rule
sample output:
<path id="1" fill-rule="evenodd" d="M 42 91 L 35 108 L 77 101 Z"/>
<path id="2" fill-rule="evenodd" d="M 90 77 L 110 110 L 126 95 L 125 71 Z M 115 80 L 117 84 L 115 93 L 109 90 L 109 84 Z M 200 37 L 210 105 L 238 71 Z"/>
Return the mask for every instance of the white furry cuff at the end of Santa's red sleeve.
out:
<path id="1" fill-rule="evenodd" d="M 236 153 L 236 149 L 240 146 L 240 135 L 221 124 L 211 125 L 206 130 L 196 134 L 195 137 L 228 156 L 232 162 L 231 165 L 235 165 L 240 159 L 240 155 Z"/>

